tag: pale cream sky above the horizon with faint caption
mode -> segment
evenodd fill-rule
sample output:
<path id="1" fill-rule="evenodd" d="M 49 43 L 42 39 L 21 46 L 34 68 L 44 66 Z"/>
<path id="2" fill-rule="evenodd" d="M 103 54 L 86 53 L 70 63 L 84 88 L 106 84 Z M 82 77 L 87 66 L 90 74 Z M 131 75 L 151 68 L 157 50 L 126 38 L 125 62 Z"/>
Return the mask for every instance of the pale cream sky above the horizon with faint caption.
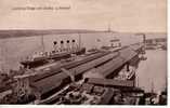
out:
<path id="1" fill-rule="evenodd" d="M 70 6 L 69 10 L 13 10 Z M 166 0 L 0 0 L 0 29 L 166 32 Z"/>

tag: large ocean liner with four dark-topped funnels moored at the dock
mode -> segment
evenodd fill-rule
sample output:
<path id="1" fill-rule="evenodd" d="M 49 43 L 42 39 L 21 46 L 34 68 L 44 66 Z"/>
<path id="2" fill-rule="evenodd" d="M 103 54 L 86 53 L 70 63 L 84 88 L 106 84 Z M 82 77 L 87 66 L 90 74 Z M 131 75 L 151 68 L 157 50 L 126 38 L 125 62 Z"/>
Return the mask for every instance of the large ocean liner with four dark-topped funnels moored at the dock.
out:
<path id="1" fill-rule="evenodd" d="M 30 56 L 27 56 L 26 59 L 22 60 L 21 64 L 24 68 L 35 68 L 41 65 L 44 65 L 51 60 L 60 60 L 63 58 L 68 58 L 71 54 L 80 55 L 86 53 L 86 48 L 81 48 L 76 44 L 75 40 L 71 40 L 71 48 L 69 46 L 69 40 L 66 41 L 67 48 L 64 48 L 64 41 L 61 41 L 61 48 L 57 48 L 57 42 L 53 42 L 54 50 L 51 52 L 44 52 L 44 44 L 42 38 L 43 51 L 35 53 Z"/>

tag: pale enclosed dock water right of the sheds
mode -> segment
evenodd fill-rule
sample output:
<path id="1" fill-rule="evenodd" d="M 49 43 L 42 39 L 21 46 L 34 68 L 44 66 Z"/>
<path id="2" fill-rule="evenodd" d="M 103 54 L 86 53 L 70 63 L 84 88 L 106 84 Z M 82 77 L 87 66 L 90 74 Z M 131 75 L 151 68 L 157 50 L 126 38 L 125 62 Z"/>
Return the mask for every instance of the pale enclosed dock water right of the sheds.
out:
<path id="1" fill-rule="evenodd" d="M 160 92 L 167 80 L 167 51 L 146 51 L 147 59 L 142 60 L 136 71 L 139 86 L 145 91 Z"/>

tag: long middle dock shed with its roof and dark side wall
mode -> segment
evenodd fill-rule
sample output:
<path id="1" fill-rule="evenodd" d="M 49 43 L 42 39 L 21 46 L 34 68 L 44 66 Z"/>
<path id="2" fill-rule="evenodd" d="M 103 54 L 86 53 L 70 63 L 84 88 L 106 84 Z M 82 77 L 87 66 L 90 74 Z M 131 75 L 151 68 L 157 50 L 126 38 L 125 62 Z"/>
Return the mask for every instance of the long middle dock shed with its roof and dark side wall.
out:
<path id="1" fill-rule="evenodd" d="M 74 75 L 76 79 L 81 79 L 83 72 L 112 59 L 114 56 L 115 54 L 108 54 L 92 62 L 89 62 L 87 64 L 82 64 L 73 69 L 69 69 L 68 71 L 70 72 L 70 75 Z M 60 72 L 54 76 L 44 78 L 40 81 L 34 82 L 31 83 L 31 86 L 34 87 L 35 91 L 38 91 L 38 93 L 41 95 L 40 96 L 41 98 L 45 98 L 53 93 L 52 91 L 57 92 L 64 85 L 70 82 L 71 82 L 70 77 L 66 72 Z"/>

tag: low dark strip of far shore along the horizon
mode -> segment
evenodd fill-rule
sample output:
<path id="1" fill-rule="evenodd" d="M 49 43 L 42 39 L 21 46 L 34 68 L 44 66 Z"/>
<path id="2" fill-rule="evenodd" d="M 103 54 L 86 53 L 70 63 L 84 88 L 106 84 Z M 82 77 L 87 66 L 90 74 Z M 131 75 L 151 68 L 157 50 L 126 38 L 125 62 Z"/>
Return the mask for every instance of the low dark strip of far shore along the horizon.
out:
<path id="1" fill-rule="evenodd" d="M 38 30 L 38 29 L 8 29 L 0 30 L 0 39 L 8 38 L 23 38 L 23 37 L 34 37 L 34 36 L 45 36 L 45 35 L 65 35 L 65 33 L 95 33 L 95 32 L 109 32 L 107 30 L 87 30 L 87 29 L 47 29 L 47 30 Z M 112 33 L 132 33 L 138 35 L 141 32 L 117 32 L 110 31 Z M 160 35 L 166 36 L 167 32 L 142 32 L 147 35 Z"/>

